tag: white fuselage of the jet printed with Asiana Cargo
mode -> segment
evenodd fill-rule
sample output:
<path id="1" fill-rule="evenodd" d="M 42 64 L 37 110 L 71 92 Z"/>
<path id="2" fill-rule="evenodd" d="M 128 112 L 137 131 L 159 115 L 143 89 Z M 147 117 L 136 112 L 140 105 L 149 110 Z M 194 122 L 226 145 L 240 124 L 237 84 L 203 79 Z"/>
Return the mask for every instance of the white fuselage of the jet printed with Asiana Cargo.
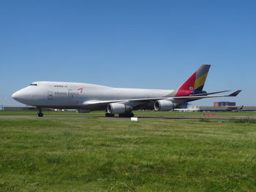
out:
<path id="1" fill-rule="evenodd" d="M 35 107 L 105 110 L 104 104 L 86 105 L 86 101 L 158 98 L 171 93 L 171 90 L 111 88 L 80 82 L 33 82 L 13 93 L 12 98 Z"/>

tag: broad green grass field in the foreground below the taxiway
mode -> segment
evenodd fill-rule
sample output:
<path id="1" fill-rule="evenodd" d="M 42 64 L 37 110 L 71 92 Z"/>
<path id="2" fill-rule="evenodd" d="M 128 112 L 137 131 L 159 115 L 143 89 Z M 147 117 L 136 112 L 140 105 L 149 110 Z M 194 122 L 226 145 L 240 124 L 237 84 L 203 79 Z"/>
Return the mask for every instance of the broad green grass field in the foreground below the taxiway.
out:
<path id="1" fill-rule="evenodd" d="M 0 119 L 0 191 L 256 191 L 256 126 Z"/>

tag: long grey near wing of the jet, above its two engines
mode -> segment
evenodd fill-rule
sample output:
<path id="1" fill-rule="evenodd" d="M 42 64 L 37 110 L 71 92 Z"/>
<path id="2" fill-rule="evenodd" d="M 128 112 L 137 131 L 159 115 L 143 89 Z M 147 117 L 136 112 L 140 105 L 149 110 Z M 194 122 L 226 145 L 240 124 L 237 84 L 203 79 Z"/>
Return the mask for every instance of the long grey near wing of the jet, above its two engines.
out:
<path id="1" fill-rule="evenodd" d="M 219 91 L 222 92 L 222 91 Z M 217 92 L 217 93 L 219 93 Z M 226 91 L 225 91 L 226 92 Z M 144 99 L 122 99 L 122 100 L 108 100 L 108 101 L 100 101 L 100 100 L 91 100 L 85 101 L 83 105 L 91 105 L 91 104 L 110 104 L 110 103 L 118 103 L 118 102 L 146 102 L 146 101 L 157 101 L 162 99 L 175 99 L 175 100 L 187 100 L 187 101 L 195 101 L 197 99 L 205 99 L 205 98 L 215 98 L 215 97 L 226 97 L 226 96 L 237 96 L 241 90 L 235 91 L 229 95 L 220 95 L 220 96 L 175 96 L 175 97 L 159 97 L 159 98 L 144 98 Z M 212 93 L 214 94 L 214 93 Z"/>

